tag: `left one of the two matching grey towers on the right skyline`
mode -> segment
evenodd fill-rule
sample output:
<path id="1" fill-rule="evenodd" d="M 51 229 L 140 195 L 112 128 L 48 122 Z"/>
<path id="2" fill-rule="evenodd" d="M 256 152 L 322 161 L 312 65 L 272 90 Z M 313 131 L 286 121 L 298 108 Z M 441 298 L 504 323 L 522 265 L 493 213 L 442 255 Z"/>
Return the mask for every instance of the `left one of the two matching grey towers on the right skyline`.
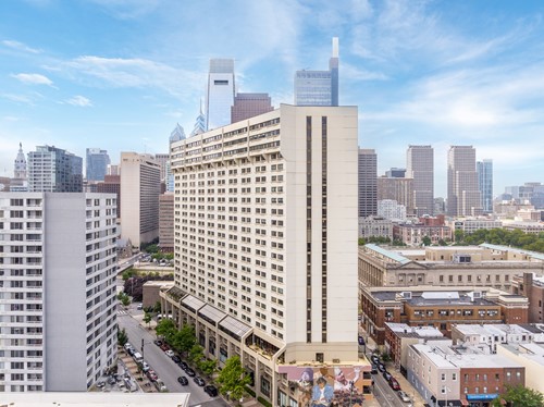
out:
<path id="1" fill-rule="evenodd" d="M 413 213 L 434 213 L 434 150 L 431 146 L 408 146 L 406 177 L 413 178 Z"/>

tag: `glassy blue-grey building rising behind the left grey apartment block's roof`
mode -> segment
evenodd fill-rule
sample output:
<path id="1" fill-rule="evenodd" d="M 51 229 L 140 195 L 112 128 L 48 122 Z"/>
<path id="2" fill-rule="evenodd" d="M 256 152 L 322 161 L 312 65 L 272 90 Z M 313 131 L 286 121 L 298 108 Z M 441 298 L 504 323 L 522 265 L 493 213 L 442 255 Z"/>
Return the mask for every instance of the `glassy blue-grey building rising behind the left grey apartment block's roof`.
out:
<path id="1" fill-rule="evenodd" d="M 38 146 L 28 152 L 28 190 L 83 192 L 83 159 L 60 148 Z"/>

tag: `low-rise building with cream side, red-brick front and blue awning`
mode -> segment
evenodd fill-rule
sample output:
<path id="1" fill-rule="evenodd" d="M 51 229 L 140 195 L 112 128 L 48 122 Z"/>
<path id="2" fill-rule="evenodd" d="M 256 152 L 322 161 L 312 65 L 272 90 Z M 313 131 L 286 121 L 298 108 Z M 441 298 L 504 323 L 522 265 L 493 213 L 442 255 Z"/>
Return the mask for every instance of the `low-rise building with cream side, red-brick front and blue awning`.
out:
<path id="1" fill-rule="evenodd" d="M 490 406 L 507 386 L 524 385 L 526 368 L 507 357 L 447 342 L 410 345 L 408 381 L 433 406 Z"/>

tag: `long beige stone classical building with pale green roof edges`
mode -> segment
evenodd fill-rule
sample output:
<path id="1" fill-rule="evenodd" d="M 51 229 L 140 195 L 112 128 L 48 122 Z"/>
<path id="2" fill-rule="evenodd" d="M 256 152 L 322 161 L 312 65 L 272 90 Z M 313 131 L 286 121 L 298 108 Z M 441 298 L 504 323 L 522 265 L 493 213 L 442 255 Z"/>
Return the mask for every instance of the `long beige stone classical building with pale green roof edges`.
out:
<path id="1" fill-rule="evenodd" d="M 490 286 L 510 291 L 516 275 L 544 274 L 544 255 L 505 246 L 359 247 L 361 286 Z"/>

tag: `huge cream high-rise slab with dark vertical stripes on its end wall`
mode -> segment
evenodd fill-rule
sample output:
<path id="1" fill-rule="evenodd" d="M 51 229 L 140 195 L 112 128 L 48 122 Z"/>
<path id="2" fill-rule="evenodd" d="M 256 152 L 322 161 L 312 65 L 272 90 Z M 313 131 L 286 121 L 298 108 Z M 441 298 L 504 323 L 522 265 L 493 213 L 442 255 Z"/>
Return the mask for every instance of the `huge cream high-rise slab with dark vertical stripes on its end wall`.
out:
<path id="1" fill-rule="evenodd" d="M 175 286 L 163 308 L 220 365 L 239 355 L 274 406 L 298 403 L 289 383 L 309 366 L 354 373 L 357 108 L 282 104 L 171 147 Z M 367 368 L 356 386 L 370 394 Z"/>

